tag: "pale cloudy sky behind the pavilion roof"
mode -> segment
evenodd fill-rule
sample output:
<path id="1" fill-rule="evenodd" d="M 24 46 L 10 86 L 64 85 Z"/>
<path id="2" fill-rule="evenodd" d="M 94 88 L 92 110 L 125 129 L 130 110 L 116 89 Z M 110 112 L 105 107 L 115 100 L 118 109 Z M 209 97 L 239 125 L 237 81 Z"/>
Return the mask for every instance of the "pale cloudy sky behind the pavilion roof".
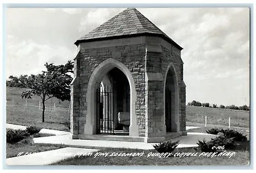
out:
<path id="1" fill-rule="evenodd" d="M 125 8 L 8 8 L 6 78 L 74 59 L 74 42 Z M 184 50 L 187 103 L 250 105 L 249 8 L 137 8 Z"/>

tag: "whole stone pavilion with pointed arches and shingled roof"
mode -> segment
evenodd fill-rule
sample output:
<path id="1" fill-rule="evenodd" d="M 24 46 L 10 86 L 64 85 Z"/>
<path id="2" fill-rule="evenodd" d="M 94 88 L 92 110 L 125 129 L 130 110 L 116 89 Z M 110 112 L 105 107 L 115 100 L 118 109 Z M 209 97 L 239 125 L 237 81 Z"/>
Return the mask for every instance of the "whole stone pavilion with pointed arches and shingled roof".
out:
<path id="1" fill-rule="evenodd" d="M 136 8 L 75 44 L 72 139 L 163 142 L 186 135 L 182 47 Z"/>

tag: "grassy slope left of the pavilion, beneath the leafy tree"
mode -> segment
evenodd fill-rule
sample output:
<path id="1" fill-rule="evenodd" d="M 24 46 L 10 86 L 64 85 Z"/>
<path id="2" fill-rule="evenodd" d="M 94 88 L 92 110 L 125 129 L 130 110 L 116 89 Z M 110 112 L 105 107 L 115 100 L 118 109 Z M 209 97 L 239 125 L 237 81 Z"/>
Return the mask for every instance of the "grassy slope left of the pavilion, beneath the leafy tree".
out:
<path id="1" fill-rule="evenodd" d="M 42 103 L 39 109 L 40 98 L 33 96 L 27 101 L 22 99 L 20 94 L 24 89 L 7 87 L 6 91 L 6 123 L 24 126 L 37 126 L 38 128 L 49 128 L 70 132 L 70 114 L 68 113 L 69 102 L 59 102 L 52 98 L 47 100 L 45 109 L 45 123 L 42 123 Z M 53 104 L 56 109 L 53 109 Z M 50 107 L 52 106 L 52 107 Z"/>

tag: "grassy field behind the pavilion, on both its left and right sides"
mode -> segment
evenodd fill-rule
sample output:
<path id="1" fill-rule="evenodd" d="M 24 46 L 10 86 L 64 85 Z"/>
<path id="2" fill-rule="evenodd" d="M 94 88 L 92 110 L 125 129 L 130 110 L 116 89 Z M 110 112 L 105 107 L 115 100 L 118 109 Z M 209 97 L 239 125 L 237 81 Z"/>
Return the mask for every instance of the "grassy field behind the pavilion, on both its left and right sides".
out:
<path id="1" fill-rule="evenodd" d="M 19 125 L 33 125 L 40 128 L 50 128 L 54 130 L 63 130 L 69 132 L 70 114 L 68 113 L 69 102 L 59 102 L 52 98 L 47 100 L 45 109 L 45 123 L 42 123 L 42 107 L 38 105 L 40 98 L 33 96 L 26 100 L 20 97 L 24 89 L 7 87 L 6 88 L 6 122 Z M 52 107 L 56 104 L 56 110 Z M 41 103 L 42 105 L 42 103 Z M 51 108 L 50 108 L 51 107 Z M 205 116 L 207 116 L 207 126 L 228 126 L 228 117 L 231 119 L 232 127 L 250 128 L 250 112 L 243 110 L 228 110 L 207 107 L 186 107 L 186 119 L 188 125 L 198 126 L 200 123 L 204 126 Z"/>

